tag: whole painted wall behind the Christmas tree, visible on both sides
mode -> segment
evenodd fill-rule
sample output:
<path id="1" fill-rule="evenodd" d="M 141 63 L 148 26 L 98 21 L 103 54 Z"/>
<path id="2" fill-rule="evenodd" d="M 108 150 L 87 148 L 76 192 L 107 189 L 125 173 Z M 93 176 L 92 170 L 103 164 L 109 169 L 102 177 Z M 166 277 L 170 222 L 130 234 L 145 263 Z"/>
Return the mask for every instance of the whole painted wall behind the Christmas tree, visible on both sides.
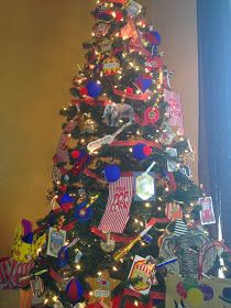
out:
<path id="1" fill-rule="evenodd" d="M 50 210 L 45 191 L 61 134 L 58 110 L 69 101 L 94 2 L 0 1 L 0 256 L 10 253 L 22 218 L 35 221 Z M 183 95 L 186 133 L 197 145 L 196 0 L 143 2 L 152 7 L 150 19 L 175 69 L 173 88 Z"/>

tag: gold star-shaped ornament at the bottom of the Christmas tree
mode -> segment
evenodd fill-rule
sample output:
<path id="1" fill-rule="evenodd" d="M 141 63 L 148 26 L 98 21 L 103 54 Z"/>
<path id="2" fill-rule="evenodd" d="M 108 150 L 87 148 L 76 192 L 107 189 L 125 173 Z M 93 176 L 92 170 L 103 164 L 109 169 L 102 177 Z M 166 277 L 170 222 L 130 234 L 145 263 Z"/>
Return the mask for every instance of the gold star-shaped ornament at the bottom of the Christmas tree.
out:
<path id="1" fill-rule="evenodd" d="M 111 292 L 120 284 L 120 280 L 111 278 L 107 270 L 102 271 L 97 278 L 90 277 L 86 280 L 92 290 L 89 293 L 88 304 L 100 301 L 110 307 Z"/>

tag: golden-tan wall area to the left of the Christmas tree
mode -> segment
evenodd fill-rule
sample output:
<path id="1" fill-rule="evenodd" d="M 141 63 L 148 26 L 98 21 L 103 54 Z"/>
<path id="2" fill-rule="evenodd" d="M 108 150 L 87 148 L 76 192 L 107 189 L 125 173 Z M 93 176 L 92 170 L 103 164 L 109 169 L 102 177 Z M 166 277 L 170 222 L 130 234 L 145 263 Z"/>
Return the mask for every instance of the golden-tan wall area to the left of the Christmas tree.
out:
<path id="1" fill-rule="evenodd" d="M 0 1 L 0 256 L 10 253 L 22 218 L 35 221 L 50 209 L 58 110 L 84 61 L 92 2 Z"/>

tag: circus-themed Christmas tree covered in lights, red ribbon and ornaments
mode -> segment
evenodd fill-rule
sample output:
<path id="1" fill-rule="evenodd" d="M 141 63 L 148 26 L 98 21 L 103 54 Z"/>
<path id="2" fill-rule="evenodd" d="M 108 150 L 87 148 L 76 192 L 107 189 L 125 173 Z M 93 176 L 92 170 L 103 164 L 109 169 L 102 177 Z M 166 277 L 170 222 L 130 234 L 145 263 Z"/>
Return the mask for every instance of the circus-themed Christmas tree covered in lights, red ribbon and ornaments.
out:
<path id="1" fill-rule="evenodd" d="M 184 299 L 188 289 L 200 298 L 198 277 L 217 258 L 212 246 L 198 265 L 211 243 L 201 222 L 215 217 L 191 179 L 161 35 L 133 0 L 98 0 L 92 15 L 86 64 L 61 110 L 52 210 L 34 231 L 47 240 L 31 277 L 46 307 L 165 307 L 167 273 L 184 277 Z"/>

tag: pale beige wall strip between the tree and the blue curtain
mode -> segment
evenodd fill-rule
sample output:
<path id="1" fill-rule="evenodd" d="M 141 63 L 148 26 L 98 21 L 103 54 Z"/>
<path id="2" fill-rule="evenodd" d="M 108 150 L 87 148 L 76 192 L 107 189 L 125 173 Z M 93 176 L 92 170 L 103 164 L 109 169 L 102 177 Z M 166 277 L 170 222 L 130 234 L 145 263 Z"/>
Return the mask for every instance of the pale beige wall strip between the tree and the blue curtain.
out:
<path id="1" fill-rule="evenodd" d="M 152 4 L 148 19 L 162 34 L 162 50 L 169 70 L 172 88 L 182 94 L 185 134 L 198 150 L 198 51 L 196 0 L 145 0 Z M 198 158 L 193 164 L 198 177 Z"/>

